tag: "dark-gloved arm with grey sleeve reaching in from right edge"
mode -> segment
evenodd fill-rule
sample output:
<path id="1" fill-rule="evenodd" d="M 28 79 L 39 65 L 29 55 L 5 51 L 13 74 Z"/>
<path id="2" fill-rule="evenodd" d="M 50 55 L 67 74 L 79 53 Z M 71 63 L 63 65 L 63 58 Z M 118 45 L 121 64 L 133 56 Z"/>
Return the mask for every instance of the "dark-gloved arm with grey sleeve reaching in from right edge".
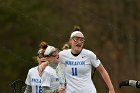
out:
<path id="1" fill-rule="evenodd" d="M 122 86 L 132 86 L 132 87 L 135 87 L 135 88 L 140 88 L 140 81 L 123 80 L 123 81 L 120 81 L 120 83 L 119 83 L 119 87 L 121 88 Z"/>

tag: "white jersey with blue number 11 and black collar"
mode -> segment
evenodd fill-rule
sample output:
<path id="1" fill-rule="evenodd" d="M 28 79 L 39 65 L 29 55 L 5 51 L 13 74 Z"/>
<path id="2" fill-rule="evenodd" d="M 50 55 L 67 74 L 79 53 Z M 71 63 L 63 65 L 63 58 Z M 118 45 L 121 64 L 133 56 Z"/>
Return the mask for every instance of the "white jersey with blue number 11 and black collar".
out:
<path id="1" fill-rule="evenodd" d="M 91 70 L 101 62 L 93 52 L 82 49 L 78 56 L 73 56 L 68 49 L 61 51 L 59 58 L 65 64 L 66 93 L 96 93 Z"/>

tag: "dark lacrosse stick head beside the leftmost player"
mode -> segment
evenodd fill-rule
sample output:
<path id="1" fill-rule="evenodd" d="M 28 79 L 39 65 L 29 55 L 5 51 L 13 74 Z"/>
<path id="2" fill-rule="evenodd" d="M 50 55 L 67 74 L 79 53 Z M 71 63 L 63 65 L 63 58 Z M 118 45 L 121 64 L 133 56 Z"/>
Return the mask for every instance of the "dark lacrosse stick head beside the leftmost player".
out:
<path id="1" fill-rule="evenodd" d="M 25 88 L 25 83 L 23 80 L 15 80 L 9 84 L 11 88 L 13 88 L 14 93 L 22 93 L 23 88 Z"/>

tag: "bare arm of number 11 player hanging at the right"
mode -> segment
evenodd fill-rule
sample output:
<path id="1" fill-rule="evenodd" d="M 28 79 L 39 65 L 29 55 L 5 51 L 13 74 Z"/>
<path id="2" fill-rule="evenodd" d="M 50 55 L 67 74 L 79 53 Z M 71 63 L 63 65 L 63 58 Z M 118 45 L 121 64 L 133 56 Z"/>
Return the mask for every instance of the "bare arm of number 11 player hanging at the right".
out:
<path id="1" fill-rule="evenodd" d="M 110 77 L 107 73 L 107 71 L 105 70 L 105 68 L 103 67 L 102 64 L 100 64 L 98 67 L 97 67 L 97 70 L 101 73 L 105 83 L 107 84 L 108 88 L 109 88 L 109 93 L 115 93 L 114 91 L 114 87 L 111 83 L 111 80 L 110 80 Z"/>

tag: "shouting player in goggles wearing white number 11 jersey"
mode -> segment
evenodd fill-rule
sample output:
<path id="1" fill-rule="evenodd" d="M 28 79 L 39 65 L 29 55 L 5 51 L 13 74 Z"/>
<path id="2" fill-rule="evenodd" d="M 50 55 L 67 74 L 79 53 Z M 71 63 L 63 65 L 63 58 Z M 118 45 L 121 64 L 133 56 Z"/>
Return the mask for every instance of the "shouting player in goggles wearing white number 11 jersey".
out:
<path id="1" fill-rule="evenodd" d="M 69 40 L 71 49 L 59 53 L 59 65 L 65 65 L 60 66 L 66 79 L 65 93 L 97 93 L 91 79 L 92 66 L 101 73 L 109 93 L 115 93 L 107 71 L 92 51 L 83 48 L 84 42 L 84 35 L 76 27 Z"/>

